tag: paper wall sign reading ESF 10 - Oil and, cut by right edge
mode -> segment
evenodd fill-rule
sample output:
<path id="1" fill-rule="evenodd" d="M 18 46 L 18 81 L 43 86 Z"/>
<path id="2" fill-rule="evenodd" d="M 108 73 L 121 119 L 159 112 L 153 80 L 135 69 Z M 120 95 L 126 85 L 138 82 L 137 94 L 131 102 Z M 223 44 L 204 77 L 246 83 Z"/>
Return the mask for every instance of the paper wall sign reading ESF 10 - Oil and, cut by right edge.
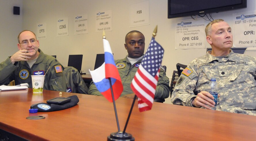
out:
<path id="1" fill-rule="evenodd" d="M 233 14 L 234 47 L 256 46 L 256 12 Z"/>

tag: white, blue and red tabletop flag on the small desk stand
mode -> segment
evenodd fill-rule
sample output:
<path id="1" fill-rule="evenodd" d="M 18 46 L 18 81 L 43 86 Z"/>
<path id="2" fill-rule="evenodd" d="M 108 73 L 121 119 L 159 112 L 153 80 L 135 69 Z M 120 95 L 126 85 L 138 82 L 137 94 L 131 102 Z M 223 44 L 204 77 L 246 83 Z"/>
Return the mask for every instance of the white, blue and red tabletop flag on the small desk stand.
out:
<path id="1" fill-rule="evenodd" d="M 105 52 L 105 62 L 95 70 L 89 70 L 94 84 L 101 94 L 107 98 L 109 102 L 113 102 L 109 79 L 111 79 L 111 85 L 114 94 L 114 100 L 120 97 L 123 92 L 123 85 L 114 62 L 113 54 L 108 40 L 103 39 L 103 46 Z"/>

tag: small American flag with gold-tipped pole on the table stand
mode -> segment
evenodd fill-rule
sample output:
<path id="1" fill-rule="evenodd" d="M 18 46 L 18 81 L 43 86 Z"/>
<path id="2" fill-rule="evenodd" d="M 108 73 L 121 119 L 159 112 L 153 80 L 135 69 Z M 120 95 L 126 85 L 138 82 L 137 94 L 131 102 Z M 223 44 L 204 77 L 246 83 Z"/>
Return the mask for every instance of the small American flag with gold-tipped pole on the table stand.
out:
<path id="1" fill-rule="evenodd" d="M 131 82 L 131 89 L 138 96 L 140 112 L 152 108 L 163 52 L 161 45 L 152 37 L 148 50 Z"/>

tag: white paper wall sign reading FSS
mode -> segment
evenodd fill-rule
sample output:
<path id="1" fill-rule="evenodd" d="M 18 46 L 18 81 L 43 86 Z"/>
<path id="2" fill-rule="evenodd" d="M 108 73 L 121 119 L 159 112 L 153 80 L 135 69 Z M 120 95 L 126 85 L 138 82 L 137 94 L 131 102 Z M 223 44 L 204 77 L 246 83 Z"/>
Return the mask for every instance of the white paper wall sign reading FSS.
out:
<path id="1" fill-rule="evenodd" d="M 130 4 L 130 27 L 150 24 L 149 2 L 143 1 Z"/>

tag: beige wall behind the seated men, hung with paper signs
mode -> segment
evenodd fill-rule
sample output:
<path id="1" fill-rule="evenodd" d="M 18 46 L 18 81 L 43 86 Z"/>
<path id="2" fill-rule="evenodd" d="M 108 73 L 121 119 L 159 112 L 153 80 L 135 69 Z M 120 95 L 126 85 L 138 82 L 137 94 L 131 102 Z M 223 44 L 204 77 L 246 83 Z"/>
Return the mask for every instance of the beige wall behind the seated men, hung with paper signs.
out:
<path id="1" fill-rule="evenodd" d="M 167 76 L 172 76 L 172 71 L 176 70 L 176 63 L 188 64 L 194 58 L 206 54 L 206 49 L 178 49 L 175 50 L 175 22 L 177 20 L 191 19 L 191 17 L 167 18 L 167 0 L 149 0 L 150 4 L 150 25 L 129 28 L 129 5 L 144 0 L 23 0 L 21 1 L 0 0 L 1 22 L 5 21 L 5 26 L 1 30 L 1 56 L 0 61 L 4 61 L 7 56 L 11 56 L 16 49 L 17 35 L 21 30 L 31 30 L 36 33 L 37 24 L 47 23 L 47 39 L 40 39 L 40 48 L 48 55 L 57 55 L 59 62 L 67 66 L 69 54 L 83 54 L 82 70 L 89 73 L 88 69 L 93 69 L 96 54 L 103 53 L 102 33 L 95 33 L 95 14 L 102 10 L 112 9 L 112 31 L 106 32 L 108 41 L 114 53 L 114 59 L 121 59 L 127 55 L 124 48 L 125 35 L 131 30 L 141 31 L 146 38 L 146 47 L 152 37 L 152 32 L 158 25 L 156 40 L 165 49 L 163 65 L 167 66 Z M 212 18 L 222 18 L 233 27 L 233 14 L 255 10 L 253 0 L 247 0 L 247 8 L 227 12 L 213 13 Z M 12 4 L 18 2 L 21 7 L 21 15 L 10 14 Z M 10 6 L 10 8 L 7 8 Z M 14 6 L 14 5 L 13 5 Z M 9 11 L 8 15 L 3 14 Z M 23 13 L 23 14 L 22 14 Z M 78 14 L 88 14 L 88 34 L 74 35 L 74 16 Z M 22 16 L 22 20 L 21 20 Z M 3 18 L 2 18 L 3 17 Z M 69 35 L 56 37 L 56 20 L 59 18 L 69 18 Z M 22 25 L 22 29 L 20 26 Z M 7 27 L 7 28 L 5 28 Z M 14 29 L 15 28 L 15 29 Z M 3 34 L 4 33 L 4 34 Z M 8 37 L 6 37 L 6 35 Z M 2 41 L 3 40 L 3 41 Z M 11 44 L 10 44 L 11 43 Z M 2 52 L 3 47 L 6 49 Z M 207 44 L 206 47 L 210 47 Z M 170 98 L 167 98 L 167 103 Z"/>

